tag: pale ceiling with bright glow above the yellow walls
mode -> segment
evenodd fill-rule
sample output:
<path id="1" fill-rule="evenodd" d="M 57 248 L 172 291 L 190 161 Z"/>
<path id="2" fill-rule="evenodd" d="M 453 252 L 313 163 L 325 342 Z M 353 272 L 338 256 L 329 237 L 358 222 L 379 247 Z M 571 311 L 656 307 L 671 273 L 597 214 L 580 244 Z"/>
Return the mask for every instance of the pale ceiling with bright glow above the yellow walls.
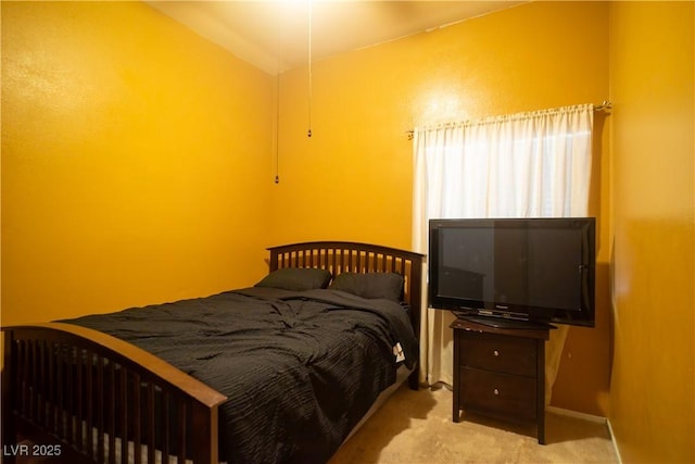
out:
<path id="1" fill-rule="evenodd" d="M 269 74 L 523 1 L 147 1 Z M 311 30 L 311 34 L 309 34 Z M 311 47 L 309 47 L 311 37 Z"/>

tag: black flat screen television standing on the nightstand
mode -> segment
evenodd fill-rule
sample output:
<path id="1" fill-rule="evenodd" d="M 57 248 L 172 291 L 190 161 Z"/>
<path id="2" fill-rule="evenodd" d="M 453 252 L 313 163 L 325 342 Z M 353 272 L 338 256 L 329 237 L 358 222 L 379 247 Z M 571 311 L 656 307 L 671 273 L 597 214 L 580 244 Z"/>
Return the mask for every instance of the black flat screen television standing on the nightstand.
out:
<path id="1" fill-rule="evenodd" d="M 429 304 L 495 327 L 594 326 L 595 218 L 430 220 Z"/>

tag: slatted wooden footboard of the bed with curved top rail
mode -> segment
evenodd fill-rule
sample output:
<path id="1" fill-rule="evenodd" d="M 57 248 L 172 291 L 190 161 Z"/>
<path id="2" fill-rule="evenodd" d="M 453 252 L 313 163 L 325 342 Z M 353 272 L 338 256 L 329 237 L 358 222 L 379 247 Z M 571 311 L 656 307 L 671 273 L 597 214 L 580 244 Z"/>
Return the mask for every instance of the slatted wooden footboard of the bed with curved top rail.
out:
<path id="1" fill-rule="evenodd" d="M 3 333 L 3 461 L 218 463 L 223 394 L 88 328 L 51 323 Z"/>

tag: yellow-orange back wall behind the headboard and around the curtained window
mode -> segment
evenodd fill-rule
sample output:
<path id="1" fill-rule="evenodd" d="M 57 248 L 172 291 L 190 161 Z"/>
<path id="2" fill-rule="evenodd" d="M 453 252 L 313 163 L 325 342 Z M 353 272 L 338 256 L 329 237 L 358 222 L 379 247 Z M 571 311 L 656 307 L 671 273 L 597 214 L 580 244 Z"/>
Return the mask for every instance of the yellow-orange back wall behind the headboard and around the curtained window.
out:
<path id="1" fill-rule="evenodd" d="M 608 4 L 530 3 L 318 61 L 311 139 L 307 77 L 303 67 L 280 81 L 270 241 L 342 238 L 410 248 L 406 130 L 607 99 Z M 604 124 L 597 115 L 597 126 Z M 596 138 L 591 214 L 601 228 L 598 321 L 595 329 L 570 330 L 553 403 L 607 415 L 608 158 L 605 131 Z"/>

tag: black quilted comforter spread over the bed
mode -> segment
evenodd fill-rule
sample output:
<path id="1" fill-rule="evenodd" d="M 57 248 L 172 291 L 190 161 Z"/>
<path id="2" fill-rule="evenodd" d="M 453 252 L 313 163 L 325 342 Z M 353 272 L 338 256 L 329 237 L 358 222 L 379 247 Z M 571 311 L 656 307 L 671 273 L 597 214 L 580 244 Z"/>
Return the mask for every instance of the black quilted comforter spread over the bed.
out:
<path id="1" fill-rule="evenodd" d="M 136 344 L 215 388 L 220 457 L 326 462 L 406 365 L 406 311 L 338 290 L 248 288 L 63 321 Z"/>

